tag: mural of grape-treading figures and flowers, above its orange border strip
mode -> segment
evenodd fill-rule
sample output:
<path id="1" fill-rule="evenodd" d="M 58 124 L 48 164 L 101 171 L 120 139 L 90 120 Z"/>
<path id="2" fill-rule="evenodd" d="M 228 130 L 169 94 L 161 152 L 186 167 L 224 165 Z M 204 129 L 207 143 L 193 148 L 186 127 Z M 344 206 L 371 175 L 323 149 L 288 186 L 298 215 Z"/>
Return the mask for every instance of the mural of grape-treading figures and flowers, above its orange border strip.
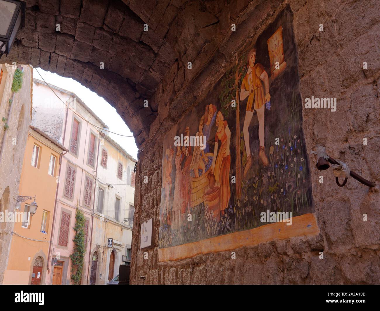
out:
<path id="1" fill-rule="evenodd" d="M 292 18 L 284 9 L 166 134 L 160 248 L 266 225 L 268 210 L 313 212 Z"/>

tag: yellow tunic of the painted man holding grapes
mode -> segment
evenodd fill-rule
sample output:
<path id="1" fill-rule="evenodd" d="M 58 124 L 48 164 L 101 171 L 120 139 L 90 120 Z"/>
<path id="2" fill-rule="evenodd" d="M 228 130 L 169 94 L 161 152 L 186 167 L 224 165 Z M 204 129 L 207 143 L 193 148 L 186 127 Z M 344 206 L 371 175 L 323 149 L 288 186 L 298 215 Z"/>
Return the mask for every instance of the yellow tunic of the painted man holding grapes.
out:
<path id="1" fill-rule="evenodd" d="M 243 79 L 242 87 L 245 90 L 249 91 L 251 85 L 253 87 L 253 92 L 248 96 L 247 111 L 255 111 L 256 109 L 260 109 L 261 106 L 265 104 L 264 88 L 260 79 L 263 71 L 263 65 L 257 63 L 253 66 L 251 73 L 247 73 Z"/>

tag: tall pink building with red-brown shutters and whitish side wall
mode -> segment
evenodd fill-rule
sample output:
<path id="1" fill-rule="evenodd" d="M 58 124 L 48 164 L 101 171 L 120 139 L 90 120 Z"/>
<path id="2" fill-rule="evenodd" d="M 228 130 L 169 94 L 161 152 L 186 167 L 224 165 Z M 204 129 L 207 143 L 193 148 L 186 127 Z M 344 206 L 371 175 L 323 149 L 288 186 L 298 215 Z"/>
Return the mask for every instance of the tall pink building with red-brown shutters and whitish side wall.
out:
<path id="1" fill-rule="evenodd" d="M 72 284 L 70 255 L 74 249 L 73 239 L 76 232 L 73 228 L 77 209 L 84 213 L 86 219 L 86 254 L 81 282 L 86 284 L 89 273 L 99 133 L 106 125 L 74 93 L 51 86 L 62 99 L 60 101 L 58 98 L 52 98 L 54 93 L 44 82 L 34 80 L 33 87 L 35 112 L 32 125 L 50 132 L 69 150 L 62 157 L 57 178 L 59 185 L 45 284 Z M 46 114 L 54 115 L 54 125 L 48 121 L 49 118 L 44 117 Z"/>

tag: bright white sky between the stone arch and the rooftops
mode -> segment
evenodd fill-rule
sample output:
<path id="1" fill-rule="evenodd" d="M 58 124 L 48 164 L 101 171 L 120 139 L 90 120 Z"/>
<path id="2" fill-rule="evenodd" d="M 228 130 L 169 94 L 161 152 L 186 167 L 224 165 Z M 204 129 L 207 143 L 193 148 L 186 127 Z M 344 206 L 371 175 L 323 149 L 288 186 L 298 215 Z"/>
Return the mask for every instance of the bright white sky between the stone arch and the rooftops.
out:
<path id="1" fill-rule="evenodd" d="M 96 93 L 90 91 L 87 87 L 84 87 L 79 82 L 71 79 L 59 76 L 56 73 L 44 71 L 41 68 L 33 70 L 33 77 L 35 79 L 41 79 L 41 76 L 49 84 L 63 88 L 79 96 L 82 101 L 89 106 L 89 108 L 108 126 L 108 129 L 112 132 L 122 135 L 133 135 L 128 126 L 122 120 L 120 115 L 116 112 L 116 109 Z M 40 73 L 40 74 L 38 74 Z M 123 137 L 116 134 L 108 133 L 114 141 L 122 146 L 133 158 L 137 158 L 137 146 L 135 144 L 134 137 Z"/>

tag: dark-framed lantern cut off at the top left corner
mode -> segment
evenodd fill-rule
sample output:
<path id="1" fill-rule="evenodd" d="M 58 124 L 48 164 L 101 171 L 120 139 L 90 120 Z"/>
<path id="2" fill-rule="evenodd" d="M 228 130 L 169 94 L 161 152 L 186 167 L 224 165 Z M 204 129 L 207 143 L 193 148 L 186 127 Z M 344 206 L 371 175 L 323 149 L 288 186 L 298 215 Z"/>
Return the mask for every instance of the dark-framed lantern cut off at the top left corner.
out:
<path id="1" fill-rule="evenodd" d="M 25 26 L 26 2 L 0 0 L 0 58 L 8 55 L 20 27 Z"/>

